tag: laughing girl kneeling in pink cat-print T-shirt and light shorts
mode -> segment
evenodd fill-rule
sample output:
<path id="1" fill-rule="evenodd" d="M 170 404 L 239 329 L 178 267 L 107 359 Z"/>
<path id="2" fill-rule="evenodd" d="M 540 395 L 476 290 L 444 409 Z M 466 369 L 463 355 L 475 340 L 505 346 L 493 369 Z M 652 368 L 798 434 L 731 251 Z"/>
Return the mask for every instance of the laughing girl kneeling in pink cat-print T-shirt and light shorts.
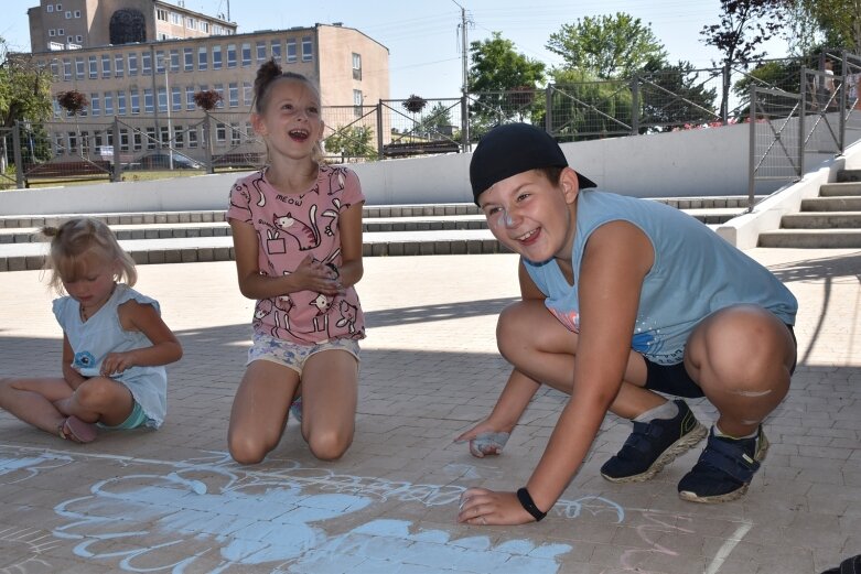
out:
<path id="1" fill-rule="evenodd" d="M 257 300 L 228 430 L 244 464 L 278 445 L 291 404 L 318 458 L 336 459 L 353 441 L 365 197 L 354 172 L 320 163 L 320 107 L 304 76 L 271 61 L 258 71 L 251 121 L 269 161 L 236 182 L 227 210 L 239 290 Z"/>

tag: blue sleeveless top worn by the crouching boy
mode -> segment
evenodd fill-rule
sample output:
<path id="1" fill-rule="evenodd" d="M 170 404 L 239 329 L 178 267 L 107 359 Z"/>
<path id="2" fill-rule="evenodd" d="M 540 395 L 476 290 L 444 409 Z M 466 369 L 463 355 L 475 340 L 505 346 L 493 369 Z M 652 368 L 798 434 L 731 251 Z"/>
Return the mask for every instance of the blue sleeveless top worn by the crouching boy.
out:
<path id="1" fill-rule="evenodd" d="M 555 260 L 524 260 L 548 310 L 579 331 L 580 264 L 589 237 L 610 221 L 628 221 L 648 237 L 655 261 L 641 291 L 631 347 L 659 365 L 680 362 L 693 328 L 715 311 L 736 304 L 769 310 L 795 324 L 798 303 L 771 271 L 689 215 L 658 202 L 581 189 L 571 254 L 574 284 Z"/>

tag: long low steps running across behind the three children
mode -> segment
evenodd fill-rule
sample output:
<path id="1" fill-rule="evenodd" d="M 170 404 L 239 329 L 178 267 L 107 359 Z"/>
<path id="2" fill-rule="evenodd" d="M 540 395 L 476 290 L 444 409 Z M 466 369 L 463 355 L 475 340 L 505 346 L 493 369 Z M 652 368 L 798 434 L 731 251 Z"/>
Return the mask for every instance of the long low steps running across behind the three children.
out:
<path id="1" fill-rule="evenodd" d="M 746 197 L 656 199 L 717 226 L 741 214 Z M 234 258 L 224 210 L 94 214 L 106 221 L 138 264 Z M 0 271 L 41 269 L 40 229 L 68 215 L 0 217 Z M 365 206 L 364 257 L 498 253 L 503 248 L 473 204 Z"/>

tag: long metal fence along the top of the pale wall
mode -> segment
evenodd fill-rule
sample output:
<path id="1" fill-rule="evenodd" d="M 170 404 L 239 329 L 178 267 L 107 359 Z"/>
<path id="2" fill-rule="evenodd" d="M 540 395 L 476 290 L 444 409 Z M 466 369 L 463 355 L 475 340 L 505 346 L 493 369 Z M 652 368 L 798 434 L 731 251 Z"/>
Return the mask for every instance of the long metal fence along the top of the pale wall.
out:
<path id="1" fill-rule="evenodd" d="M 799 147 L 810 150 L 829 141 L 824 132 L 837 137 L 829 149 L 841 151 L 844 145 L 840 133 L 846 119 L 832 119 L 826 111 L 854 109 L 849 105 L 853 97 L 849 87 L 854 86 L 852 75 L 861 69 L 861 61 L 848 54 L 830 57 L 839 59 L 840 66 L 838 89 L 827 102 L 821 101 L 821 94 L 814 97 L 812 86 L 820 85 L 817 78 L 824 75 L 815 62 L 782 59 L 757 66 L 760 71 L 772 66 L 777 74 L 729 67 L 672 68 L 625 80 L 552 84 L 540 90 L 326 106 L 322 110 L 324 152 L 332 162 L 464 152 L 488 129 L 510 121 L 542 126 L 559 141 L 583 141 L 723 126 L 754 115 L 754 123 L 763 124 L 763 130 L 767 124 L 767 131 L 752 136 L 752 158 L 758 159 L 752 160 L 756 169 L 752 167 L 751 178 L 784 177 L 800 173 Z M 787 94 L 800 95 L 800 104 Z M 794 122 L 806 117 L 795 115 L 797 106 L 811 116 L 812 123 L 807 126 L 814 126 L 809 133 L 815 138 L 789 137 L 796 130 Z M 796 119 L 784 121 L 787 118 Z M 250 116 L 238 111 L 63 117 L 39 124 L 21 122 L 0 137 L 0 167 L 14 166 L 13 172 L 0 170 L 0 187 L 23 187 L 42 180 L 117 181 L 149 170 L 213 173 L 266 162 L 266 147 L 254 133 Z M 793 138 L 798 142 L 789 145 Z M 778 158 L 781 166 L 776 165 Z"/>

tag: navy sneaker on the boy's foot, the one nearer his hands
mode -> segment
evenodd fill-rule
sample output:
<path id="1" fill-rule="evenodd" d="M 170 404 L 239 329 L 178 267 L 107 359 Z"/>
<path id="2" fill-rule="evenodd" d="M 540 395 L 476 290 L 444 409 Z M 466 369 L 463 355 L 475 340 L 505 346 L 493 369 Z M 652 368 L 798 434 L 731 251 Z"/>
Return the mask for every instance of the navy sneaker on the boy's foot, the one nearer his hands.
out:
<path id="1" fill-rule="evenodd" d="M 612 483 L 648 480 L 706 437 L 706 427 L 697 421 L 688 404 L 680 399 L 672 402 L 679 408 L 672 419 L 634 422 L 634 432 L 622 450 L 604 463 L 601 476 Z"/>

